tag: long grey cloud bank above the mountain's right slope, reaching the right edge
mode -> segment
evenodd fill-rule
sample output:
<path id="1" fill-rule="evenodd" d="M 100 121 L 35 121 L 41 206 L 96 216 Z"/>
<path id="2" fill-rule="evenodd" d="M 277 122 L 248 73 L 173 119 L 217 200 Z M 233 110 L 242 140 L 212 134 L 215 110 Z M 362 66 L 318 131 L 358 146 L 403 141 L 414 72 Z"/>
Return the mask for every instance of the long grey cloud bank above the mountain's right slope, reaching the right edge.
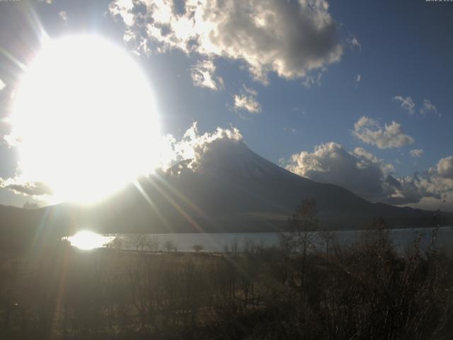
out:
<path id="1" fill-rule="evenodd" d="M 453 156 L 440 159 L 437 169 L 423 174 L 396 176 L 391 164 L 365 149 L 346 151 L 334 142 L 321 144 L 314 152 L 292 154 L 280 160 L 289 171 L 313 181 L 343 186 L 373 201 L 415 208 L 453 210 Z"/>

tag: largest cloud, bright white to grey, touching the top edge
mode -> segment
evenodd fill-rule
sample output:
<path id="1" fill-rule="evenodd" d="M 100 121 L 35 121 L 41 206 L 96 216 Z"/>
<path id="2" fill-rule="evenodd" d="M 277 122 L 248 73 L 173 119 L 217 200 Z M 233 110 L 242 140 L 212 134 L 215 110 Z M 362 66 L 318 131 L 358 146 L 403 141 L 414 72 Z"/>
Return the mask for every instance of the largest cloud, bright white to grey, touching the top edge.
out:
<path id="1" fill-rule="evenodd" d="M 326 0 L 115 0 L 113 18 L 139 53 L 172 49 L 246 64 L 254 79 L 294 79 L 338 62 L 343 47 Z"/>

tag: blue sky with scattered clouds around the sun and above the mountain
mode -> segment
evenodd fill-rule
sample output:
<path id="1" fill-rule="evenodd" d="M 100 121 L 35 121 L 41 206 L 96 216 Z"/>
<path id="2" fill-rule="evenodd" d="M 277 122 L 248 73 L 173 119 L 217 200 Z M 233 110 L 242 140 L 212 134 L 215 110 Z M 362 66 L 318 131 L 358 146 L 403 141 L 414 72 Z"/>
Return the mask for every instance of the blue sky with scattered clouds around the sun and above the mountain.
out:
<path id="1" fill-rule="evenodd" d="M 435 208 L 444 199 L 447 205 L 452 202 L 453 3 L 229 0 L 225 4 L 230 8 L 240 11 L 248 6 L 246 10 L 255 16 L 281 11 L 275 16 L 280 19 L 275 24 L 277 33 L 294 8 L 300 16 L 291 16 L 287 28 L 280 31 L 289 32 L 288 36 L 278 35 L 270 42 L 274 45 L 266 45 L 260 32 L 236 30 L 241 25 L 250 27 L 248 16 L 226 15 L 226 20 L 235 20 L 236 28 L 220 29 L 217 52 L 207 53 L 202 43 L 188 52 L 178 43 L 165 42 L 166 35 L 144 33 L 139 18 L 153 18 L 153 2 L 136 2 L 132 7 L 123 6 L 122 1 L 4 2 L 0 4 L 0 47 L 24 64 L 33 60 L 33 53 L 39 50 L 39 33 L 32 24 L 36 18 L 51 38 L 103 35 L 137 52 L 134 58 L 153 87 L 163 130 L 176 139 L 195 121 L 200 133 L 234 126 L 253 151 L 302 176 L 338 183 L 387 203 Z M 184 1 L 176 2 L 173 11 L 183 13 Z M 203 11 L 225 11 L 212 7 L 212 1 L 203 6 Z M 30 19 L 30 13 L 35 19 Z M 302 30 L 315 25 L 311 16 L 321 14 L 324 21 L 316 24 L 328 26 L 326 34 L 305 33 L 301 34 L 303 41 L 299 40 Z M 133 24 L 128 24 L 131 17 Z M 164 23 L 166 30 L 173 30 L 176 26 L 172 25 L 172 21 Z M 128 29 L 134 34 L 132 42 L 125 42 Z M 244 46 L 234 42 L 241 32 L 249 45 L 258 47 L 241 51 L 239 47 Z M 231 37 L 234 40 L 228 45 Z M 140 49 L 139 42 L 147 42 L 149 50 Z M 239 50 L 231 51 L 231 46 Z M 260 60 L 260 56 L 263 60 L 268 56 L 268 46 L 281 57 L 281 69 L 272 66 L 271 59 Z M 329 53 L 335 55 L 334 61 Z M 0 115 L 7 117 L 8 95 L 18 86 L 20 72 L 5 55 L 0 58 L 0 79 L 6 84 L 0 91 Z M 304 63 L 304 58 L 309 62 Z M 194 81 L 197 62 L 202 61 L 214 65 L 210 77 L 217 89 L 197 86 Z M 262 74 L 251 70 L 253 65 Z M 235 107 L 235 96 L 243 99 L 244 106 Z M 258 112 L 246 110 L 246 103 L 254 104 Z M 367 120 L 355 127 L 362 117 Z M 397 125 L 386 132 L 392 122 Z M 7 135 L 8 128 L 0 132 Z M 356 148 L 363 148 L 366 156 L 360 150 L 355 152 Z M 17 152 L 4 142 L 0 157 L 0 177 L 6 181 L 15 176 Z M 337 165 L 335 159 L 349 159 L 349 163 Z M 360 176 L 364 169 L 368 171 L 365 180 L 377 181 L 382 190 L 368 194 L 345 182 L 338 170 L 348 171 L 345 162 Z M 370 177 L 369 173 L 376 175 Z M 396 186 L 389 184 L 389 176 L 398 181 Z M 22 205 L 38 198 L 3 186 L 1 204 Z"/>

